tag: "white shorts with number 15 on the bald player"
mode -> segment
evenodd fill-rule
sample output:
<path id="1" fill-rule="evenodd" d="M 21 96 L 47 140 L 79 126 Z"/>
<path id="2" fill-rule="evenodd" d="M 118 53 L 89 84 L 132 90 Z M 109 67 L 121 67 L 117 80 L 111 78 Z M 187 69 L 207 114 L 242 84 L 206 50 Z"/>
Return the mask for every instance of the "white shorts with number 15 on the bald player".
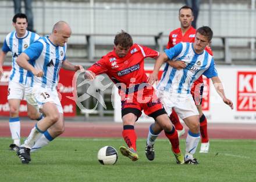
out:
<path id="1" fill-rule="evenodd" d="M 36 108 L 42 108 L 42 105 L 51 102 L 56 105 L 59 113 L 63 113 L 61 101 L 59 101 L 58 93 L 56 89 L 41 88 L 41 86 L 33 86 L 27 88 L 26 100 L 27 103 L 33 105 Z"/>

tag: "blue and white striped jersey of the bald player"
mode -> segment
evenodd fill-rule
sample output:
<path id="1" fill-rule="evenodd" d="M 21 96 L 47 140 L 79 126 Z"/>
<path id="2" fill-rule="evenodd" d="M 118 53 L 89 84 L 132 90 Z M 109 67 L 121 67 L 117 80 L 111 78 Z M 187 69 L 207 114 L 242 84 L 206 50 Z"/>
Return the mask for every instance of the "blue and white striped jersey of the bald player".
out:
<path id="1" fill-rule="evenodd" d="M 66 43 L 63 47 L 55 46 L 48 37 L 41 37 L 38 41 L 32 43 L 24 53 L 29 56 L 30 64 L 35 69 L 42 70 L 44 75 L 36 77 L 29 71 L 26 84 L 55 89 L 59 81 L 59 70 L 61 69 L 62 62 L 66 60 L 66 49 Z"/>

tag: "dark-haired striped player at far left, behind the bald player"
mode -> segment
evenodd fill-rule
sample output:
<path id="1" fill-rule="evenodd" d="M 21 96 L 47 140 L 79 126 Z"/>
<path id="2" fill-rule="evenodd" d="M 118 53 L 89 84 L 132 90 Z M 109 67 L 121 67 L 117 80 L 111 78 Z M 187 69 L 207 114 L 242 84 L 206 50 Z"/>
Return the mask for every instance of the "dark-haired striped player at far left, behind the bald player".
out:
<path id="1" fill-rule="evenodd" d="M 34 32 L 27 31 L 27 16 L 23 13 L 17 13 L 13 17 L 13 27 L 15 31 L 10 32 L 3 42 L 2 51 L 0 53 L 0 77 L 3 72 L 3 61 L 6 54 L 12 52 L 12 70 L 10 71 L 8 86 L 8 103 L 10 108 L 10 133 L 12 134 L 13 143 L 20 145 L 20 119 L 19 106 L 23 100 L 24 94 L 27 93 L 25 88 L 25 79 L 27 70 L 17 65 L 16 59 L 31 43 L 40 38 Z M 27 104 L 27 112 L 31 119 L 41 119 L 41 115 L 30 104 Z M 12 144 L 10 145 L 12 147 Z"/>

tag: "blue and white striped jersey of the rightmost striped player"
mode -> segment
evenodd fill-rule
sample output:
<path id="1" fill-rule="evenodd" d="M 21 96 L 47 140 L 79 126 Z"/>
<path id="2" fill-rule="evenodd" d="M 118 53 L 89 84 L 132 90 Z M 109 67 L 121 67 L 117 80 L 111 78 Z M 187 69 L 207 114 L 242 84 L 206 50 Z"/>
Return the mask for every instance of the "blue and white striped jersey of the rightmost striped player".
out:
<path id="1" fill-rule="evenodd" d="M 182 60 L 187 66 L 177 70 L 166 63 L 161 81 L 157 89 L 172 93 L 189 94 L 191 85 L 202 74 L 207 78 L 218 76 L 213 57 L 205 50 L 201 54 L 194 52 L 193 43 L 178 43 L 173 48 L 165 50 L 170 60 Z"/>

